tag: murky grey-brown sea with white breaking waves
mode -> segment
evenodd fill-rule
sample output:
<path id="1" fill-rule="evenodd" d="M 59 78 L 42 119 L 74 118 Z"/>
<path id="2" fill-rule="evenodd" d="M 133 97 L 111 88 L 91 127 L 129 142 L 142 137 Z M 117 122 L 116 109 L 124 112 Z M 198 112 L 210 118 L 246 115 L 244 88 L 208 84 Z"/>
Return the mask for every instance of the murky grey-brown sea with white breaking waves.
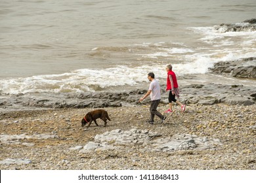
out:
<path id="1" fill-rule="evenodd" d="M 256 57 L 255 30 L 216 29 L 251 18 L 255 0 L 0 0 L 0 95 L 147 89 L 169 63 L 179 84 L 255 84 L 209 74 Z"/>

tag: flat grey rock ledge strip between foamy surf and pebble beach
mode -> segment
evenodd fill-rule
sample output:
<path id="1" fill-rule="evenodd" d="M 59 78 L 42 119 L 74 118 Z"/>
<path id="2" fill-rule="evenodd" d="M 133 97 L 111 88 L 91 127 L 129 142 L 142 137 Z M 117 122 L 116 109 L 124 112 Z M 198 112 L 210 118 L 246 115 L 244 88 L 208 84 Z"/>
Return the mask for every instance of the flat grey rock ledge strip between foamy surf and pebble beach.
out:
<path id="1" fill-rule="evenodd" d="M 26 93 L 1 95 L 0 114 L 15 110 L 41 110 L 54 108 L 104 108 L 137 106 L 147 88 L 128 92 L 85 93 Z M 190 105 L 254 105 L 255 86 L 243 84 L 189 84 L 179 87 L 179 101 Z M 168 103 L 168 93 L 161 86 L 161 103 Z M 146 99 L 144 104 L 149 103 Z"/>

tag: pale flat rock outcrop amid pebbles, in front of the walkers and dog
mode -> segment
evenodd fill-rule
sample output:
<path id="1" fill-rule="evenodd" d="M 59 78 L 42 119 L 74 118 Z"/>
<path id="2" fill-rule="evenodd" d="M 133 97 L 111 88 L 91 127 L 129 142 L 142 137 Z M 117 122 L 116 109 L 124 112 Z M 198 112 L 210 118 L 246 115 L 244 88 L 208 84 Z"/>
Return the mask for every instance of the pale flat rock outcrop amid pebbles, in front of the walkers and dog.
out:
<path id="1" fill-rule="evenodd" d="M 152 131 L 141 131 L 131 129 L 121 131 L 116 129 L 107 131 L 95 136 L 95 142 L 88 142 L 79 153 L 88 153 L 102 150 L 131 150 L 136 146 L 143 147 L 142 151 L 161 151 L 169 152 L 175 150 L 205 150 L 215 149 L 221 145 L 219 139 L 208 137 L 198 137 L 190 134 L 177 134 L 173 137 L 161 137 L 161 134 Z"/>

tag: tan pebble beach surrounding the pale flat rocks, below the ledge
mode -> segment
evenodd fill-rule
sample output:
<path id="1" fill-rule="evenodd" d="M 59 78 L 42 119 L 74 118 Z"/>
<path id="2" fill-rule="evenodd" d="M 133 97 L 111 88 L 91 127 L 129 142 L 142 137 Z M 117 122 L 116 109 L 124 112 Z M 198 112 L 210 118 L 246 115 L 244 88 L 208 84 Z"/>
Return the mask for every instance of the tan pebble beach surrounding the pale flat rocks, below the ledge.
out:
<path id="1" fill-rule="evenodd" d="M 161 104 L 161 112 L 166 109 Z M 175 107 L 160 124 L 147 124 L 148 105 L 108 107 L 107 127 L 81 127 L 83 115 L 94 108 L 28 110 L 1 115 L 1 169 L 255 169 L 256 106 L 188 105 Z M 113 148 L 84 148 L 107 131 L 152 133 L 147 142 Z M 135 130 L 135 131 L 136 131 Z M 140 132 L 141 131 L 141 132 Z M 7 136 L 5 136 L 5 135 Z M 16 136 L 12 136 L 16 135 Z M 19 137 L 20 135 L 20 137 Z M 22 136 L 23 135 L 23 136 Z M 33 136 L 34 135 L 34 136 Z M 36 136 L 37 135 L 37 136 Z M 41 135 L 41 136 L 39 136 Z M 45 135 L 45 137 L 43 136 Z M 48 136 L 47 136 L 48 135 Z M 175 135 L 204 138 L 208 146 L 181 150 L 155 148 L 160 139 Z M 143 137 L 144 138 L 144 137 Z M 213 143 L 210 142 L 215 139 Z M 140 139 L 141 140 L 141 139 Z M 153 142 L 152 144 L 150 142 Z M 106 144 L 106 142 L 105 142 Z M 211 144 L 211 146 L 209 146 Z M 76 147 L 76 148 L 75 148 Z M 104 146 L 102 146 L 104 147 Z M 165 151 L 166 150 L 166 151 Z"/>

